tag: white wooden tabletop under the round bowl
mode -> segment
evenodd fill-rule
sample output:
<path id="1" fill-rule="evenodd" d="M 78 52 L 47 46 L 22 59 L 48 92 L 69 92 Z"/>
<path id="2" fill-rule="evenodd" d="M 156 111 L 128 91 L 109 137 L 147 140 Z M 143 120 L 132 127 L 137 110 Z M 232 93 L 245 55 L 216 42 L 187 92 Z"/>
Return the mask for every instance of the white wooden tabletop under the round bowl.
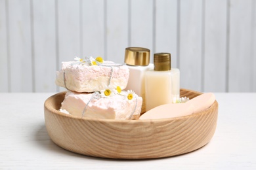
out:
<path id="1" fill-rule="evenodd" d="M 256 93 L 215 93 L 211 141 L 194 152 L 153 160 L 111 160 L 69 152 L 51 141 L 43 103 L 53 93 L 0 93 L 0 169 L 255 169 Z"/>

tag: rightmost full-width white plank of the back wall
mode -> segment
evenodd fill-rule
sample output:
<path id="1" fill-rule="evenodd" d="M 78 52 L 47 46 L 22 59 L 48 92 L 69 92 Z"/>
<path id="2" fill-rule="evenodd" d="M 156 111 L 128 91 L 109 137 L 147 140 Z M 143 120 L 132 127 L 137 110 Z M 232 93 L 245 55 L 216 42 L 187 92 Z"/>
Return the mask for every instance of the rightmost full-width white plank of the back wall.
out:
<path id="1" fill-rule="evenodd" d="M 252 1 L 230 1 L 228 92 L 252 90 Z"/>

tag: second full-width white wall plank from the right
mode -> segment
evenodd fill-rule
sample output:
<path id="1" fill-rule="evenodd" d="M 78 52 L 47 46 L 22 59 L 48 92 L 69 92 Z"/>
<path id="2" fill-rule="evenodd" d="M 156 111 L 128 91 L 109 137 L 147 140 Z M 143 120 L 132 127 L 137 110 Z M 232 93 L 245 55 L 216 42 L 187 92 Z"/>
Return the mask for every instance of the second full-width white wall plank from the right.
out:
<path id="1" fill-rule="evenodd" d="M 205 62 L 202 63 L 205 92 L 225 92 L 226 10 L 226 1 L 205 1 Z"/>

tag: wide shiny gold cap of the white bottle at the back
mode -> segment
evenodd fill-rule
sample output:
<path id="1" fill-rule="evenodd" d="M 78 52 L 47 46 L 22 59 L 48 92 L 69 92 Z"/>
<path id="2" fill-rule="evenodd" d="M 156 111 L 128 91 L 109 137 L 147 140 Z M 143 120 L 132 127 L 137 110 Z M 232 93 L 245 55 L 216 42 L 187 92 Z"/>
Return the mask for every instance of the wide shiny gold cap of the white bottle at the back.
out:
<path id="1" fill-rule="evenodd" d="M 125 63 L 146 66 L 150 63 L 150 50 L 142 47 L 125 48 Z"/>

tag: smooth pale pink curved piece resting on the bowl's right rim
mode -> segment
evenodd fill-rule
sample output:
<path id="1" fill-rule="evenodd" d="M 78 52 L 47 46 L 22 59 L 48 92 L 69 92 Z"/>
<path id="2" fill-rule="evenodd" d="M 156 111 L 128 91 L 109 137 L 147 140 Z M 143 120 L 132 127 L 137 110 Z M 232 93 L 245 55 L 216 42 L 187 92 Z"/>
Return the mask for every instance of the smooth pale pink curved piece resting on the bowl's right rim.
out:
<path id="1" fill-rule="evenodd" d="M 186 103 L 171 103 L 155 107 L 142 114 L 139 119 L 145 120 L 187 116 L 209 108 L 214 101 L 215 95 L 213 93 L 203 93 Z"/>

